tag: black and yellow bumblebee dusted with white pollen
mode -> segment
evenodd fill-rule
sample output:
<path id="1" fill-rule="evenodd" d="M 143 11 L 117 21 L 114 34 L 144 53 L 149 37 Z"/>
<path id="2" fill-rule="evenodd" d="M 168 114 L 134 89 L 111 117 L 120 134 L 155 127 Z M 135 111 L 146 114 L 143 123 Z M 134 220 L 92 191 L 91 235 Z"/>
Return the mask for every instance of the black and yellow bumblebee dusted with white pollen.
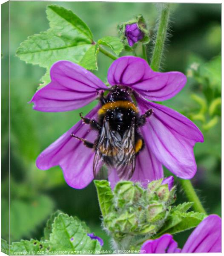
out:
<path id="1" fill-rule="evenodd" d="M 75 134 L 71 136 L 94 149 L 95 178 L 99 177 L 104 164 L 109 170 L 115 169 L 120 179 L 127 180 L 133 175 L 136 156 L 144 148 L 144 140 L 138 128 L 146 123 L 146 117 L 152 114 L 152 109 L 140 115 L 131 96 L 132 91 L 128 87 L 115 86 L 106 97 L 100 94 L 98 120 L 83 117 L 80 113 L 83 122 L 98 131 L 98 138 L 92 143 Z"/>

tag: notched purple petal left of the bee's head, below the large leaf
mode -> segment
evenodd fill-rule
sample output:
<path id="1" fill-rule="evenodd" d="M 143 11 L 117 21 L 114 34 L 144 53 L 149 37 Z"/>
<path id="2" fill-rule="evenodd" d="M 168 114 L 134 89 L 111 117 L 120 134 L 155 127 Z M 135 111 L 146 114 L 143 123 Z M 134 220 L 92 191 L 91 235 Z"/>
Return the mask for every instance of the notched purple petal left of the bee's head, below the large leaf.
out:
<path id="1" fill-rule="evenodd" d="M 98 97 L 107 87 L 93 73 L 70 61 L 57 61 L 50 70 L 52 81 L 38 90 L 30 103 L 45 112 L 71 111 Z"/>

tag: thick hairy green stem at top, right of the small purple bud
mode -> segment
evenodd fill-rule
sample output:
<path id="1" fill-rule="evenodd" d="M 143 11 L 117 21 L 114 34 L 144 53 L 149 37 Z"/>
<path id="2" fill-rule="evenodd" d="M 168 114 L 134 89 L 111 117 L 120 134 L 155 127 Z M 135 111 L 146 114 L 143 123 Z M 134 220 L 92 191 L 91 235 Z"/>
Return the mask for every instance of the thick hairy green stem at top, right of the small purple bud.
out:
<path id="1" fill-rule="evenodd" d="M 167 35 L 167 26 L 169 22 L 169 3 L 161 11 L 161 16 L 158 24 L 158 31 L 155 40 L 155 46 L 152 52 L 151 68 L 158 71 L 164 49 L 164 42 Z"/>

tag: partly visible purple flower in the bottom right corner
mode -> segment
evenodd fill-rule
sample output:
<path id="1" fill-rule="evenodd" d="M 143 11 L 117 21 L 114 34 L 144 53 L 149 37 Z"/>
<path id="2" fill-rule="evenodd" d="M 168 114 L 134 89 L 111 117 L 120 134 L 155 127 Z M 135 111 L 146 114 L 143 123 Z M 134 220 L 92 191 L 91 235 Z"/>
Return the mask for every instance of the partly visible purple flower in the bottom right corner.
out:
<path id="1" fill-rule="evenodd" d="M 144 242 L 141 251 L 145 253 L 220 253 L 221 218 L 213 214 L 201 221 L 182 250 L 178 248 L 172 235 L 164 234 L 158 239 Z"/>

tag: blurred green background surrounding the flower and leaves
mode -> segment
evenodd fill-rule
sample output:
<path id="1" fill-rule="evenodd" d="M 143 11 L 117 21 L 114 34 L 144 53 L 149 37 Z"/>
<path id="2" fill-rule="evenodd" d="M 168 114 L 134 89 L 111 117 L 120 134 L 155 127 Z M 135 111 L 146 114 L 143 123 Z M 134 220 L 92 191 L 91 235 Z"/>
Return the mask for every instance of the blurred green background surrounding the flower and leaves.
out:
<path id="1" fill-rule="evenodd" d="M 117 25 L 141 13 L 149 24 L 151 35 L 158 20 L 158 9 L 153 3 L 108 2 L 46 2 L 12 1 L 11 20 L 11 241 L 43 235 L 46 219 L 56 209 L 76 215 L 104 239 L 100 210 L 93 183 L 82 190 L 69 187 L 59 167 L 41 171 L 35 159 L 96 104 L 82 110 L 64 113 L 42 113 L 27 104 L 35 93 L 45 69 L 20 61 L 15 56 L 17 47 L 29 35 L 49 28 L 46 6 L 57 4 L 71 9 L 92 30 L 95 40 L 106 35 L 117 36 Z M 4 9 L 5 8 L 5 9 Z M 2 8 L 2 22 L 7 22 L 7 9 Z M 7 30 L 2 45 L 7 45 Z M 192 179 L 207 212 L 221 214 L 221 4 L 172 4 L 171 23 L 162 62 L 163 71 L 178 70 L 188 76 L 185 88 L 164 105 L 192 119 L 204 134 L 204 143 L 195 145 L 198 172 Z M 137 49 L 141 55 L 141 47 Z M 9 85 L 7 60 L 9 50 L 2 47 L 2 125 L 7 126 Z M 102 53 L 98 57 L 98 71 L 103 81 L 112 60 Z M 9 141 L 7 129 L 2 127 L 2 238 L 9 241 Z M 166 175 L 171 173 L 165 170 Z M 178 202 L 186 198 L 178 185 Z M 191 231 L 175 236 L 181 247 Z"/>

